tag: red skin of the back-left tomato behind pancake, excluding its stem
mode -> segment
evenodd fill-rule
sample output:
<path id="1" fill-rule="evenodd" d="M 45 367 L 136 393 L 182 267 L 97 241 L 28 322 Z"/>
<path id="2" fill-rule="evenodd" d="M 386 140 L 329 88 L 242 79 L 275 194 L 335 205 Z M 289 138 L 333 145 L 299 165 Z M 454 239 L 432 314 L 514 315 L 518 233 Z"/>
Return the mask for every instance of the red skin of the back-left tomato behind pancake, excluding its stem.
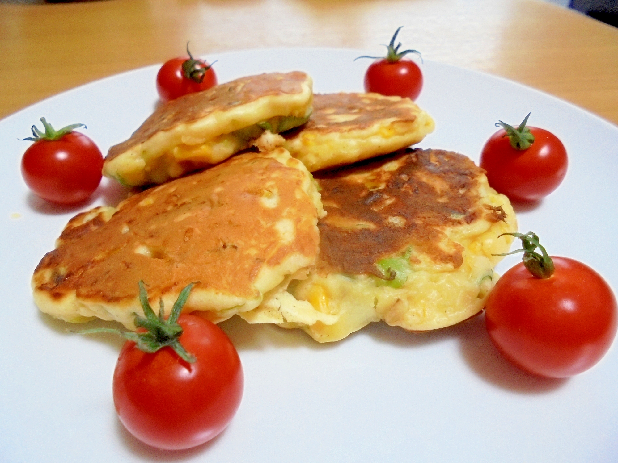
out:
<path id="1" fill-rule="evenodd" d="M 185 77 L 182 72 L 182 63 L 187 59 L 190 58 L 188 56 L 172 58 L 166 61 L 159 69 L 156 75 L 156 90 L 161 100 L 170 101 L 189 93 L 208 90 L 212 86 L 217 85 L 217 76 L 212 67 L 206 71 L 204 80 L 201 83 Z"/>

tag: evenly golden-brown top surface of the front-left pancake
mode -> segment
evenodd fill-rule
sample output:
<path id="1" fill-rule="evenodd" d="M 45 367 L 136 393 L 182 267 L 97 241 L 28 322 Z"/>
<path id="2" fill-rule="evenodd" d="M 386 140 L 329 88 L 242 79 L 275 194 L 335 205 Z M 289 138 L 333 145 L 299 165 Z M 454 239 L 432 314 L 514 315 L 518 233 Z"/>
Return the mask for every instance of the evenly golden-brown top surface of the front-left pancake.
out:
<path id="1" fill-rule="evenodd" d="M 247 153 L 136 194 L 108 222 L 97 217 L 77 225 L 88 212 L 79 214 L 36 268 L 35 278 L 54 271 L 37 289 L 55 299 L 77 291 L 78 299 L 107 303 L 134 300 L 139 280 L 150 298 L 199 282 L 196 290 L 254 298 L 265 265 L 318 251 L 317 212 L 301 194 L 303 175 Z M 265 207 L 273 191 L 278 202 Z M 282 218 L 295 224 L 289 243 L 276 228 Z"/>

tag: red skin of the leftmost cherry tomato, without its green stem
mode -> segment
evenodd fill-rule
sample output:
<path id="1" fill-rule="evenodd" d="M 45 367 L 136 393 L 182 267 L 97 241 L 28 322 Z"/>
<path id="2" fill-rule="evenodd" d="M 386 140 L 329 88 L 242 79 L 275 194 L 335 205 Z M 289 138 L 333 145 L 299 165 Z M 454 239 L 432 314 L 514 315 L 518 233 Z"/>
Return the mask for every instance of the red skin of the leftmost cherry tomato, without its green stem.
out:
<path id="1" fill-rule="evenodd" d="M 101 182 L 103 155 L 83 133 L 72 131 L 59 140 L 38 140 L 22 157 L 26 185 L 43 199 L 75 204 Z"/>

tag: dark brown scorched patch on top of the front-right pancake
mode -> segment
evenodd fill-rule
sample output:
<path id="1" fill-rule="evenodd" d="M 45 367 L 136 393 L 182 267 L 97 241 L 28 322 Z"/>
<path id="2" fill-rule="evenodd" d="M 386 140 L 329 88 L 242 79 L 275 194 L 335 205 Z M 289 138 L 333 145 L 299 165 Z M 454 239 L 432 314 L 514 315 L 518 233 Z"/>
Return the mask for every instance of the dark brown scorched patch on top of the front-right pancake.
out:
<path id="1" fill-rule="evenodd" d="M 457 269 L 463 248 L 454 243 L 449 252 L 439 246 L 446 241 L 442 230 L 481 218 L 504 219 L 501 208 L 477 204 L 476 178 L 482 173 L 455 152 L 408 149 L 316 175 L 327 212 L 318 222 L 321 267 L 384 277 L 376 262 L 412 245 Z"/>

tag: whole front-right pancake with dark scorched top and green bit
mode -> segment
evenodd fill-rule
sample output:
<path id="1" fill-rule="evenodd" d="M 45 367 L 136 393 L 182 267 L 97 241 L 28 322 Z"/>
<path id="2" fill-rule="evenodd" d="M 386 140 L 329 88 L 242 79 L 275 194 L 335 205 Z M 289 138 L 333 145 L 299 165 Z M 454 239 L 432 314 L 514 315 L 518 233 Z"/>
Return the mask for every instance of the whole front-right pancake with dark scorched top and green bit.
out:
<path id="1" fill-rule="evenodd" d="M 411 150 L 316 175 L 326 217 L 305 280 L 241 316 L 337 341 L 370 322 L 447 327 L 483 309 L 516 230 L 506 196 L 461 154 Z"/>

